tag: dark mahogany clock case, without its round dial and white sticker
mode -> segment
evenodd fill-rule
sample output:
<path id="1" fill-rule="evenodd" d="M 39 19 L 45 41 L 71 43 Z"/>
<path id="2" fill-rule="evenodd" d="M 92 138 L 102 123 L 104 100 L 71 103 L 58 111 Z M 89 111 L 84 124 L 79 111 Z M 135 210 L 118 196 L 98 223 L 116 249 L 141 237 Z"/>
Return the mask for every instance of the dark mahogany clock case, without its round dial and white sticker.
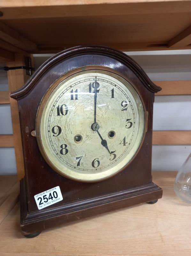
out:
<path id="1" fill-rule="evenodd" d="M 111 68 L 125 76 L 141 95 L 148 114 L 147 132 L 133 161 L 115 176 L 94 183 L 67 179 L 45 162 L 31 132 L 41 100 L 60 76 L 86 66 Z M 78 46 L 52 56 L 29 81 L 11 93 L 18 100 L 23 143 L 25 177 L 20 183 L 21 232 L 27 236 L 46 228 L 67 224 L 96 214 L 162 197 L 162 189 L 152 182 L 152 123 L 155 85 L 141 67 L 123 52 L 104 46 Z M 38 210 L 34 195 L 60 187 L 63 200 Z"/>

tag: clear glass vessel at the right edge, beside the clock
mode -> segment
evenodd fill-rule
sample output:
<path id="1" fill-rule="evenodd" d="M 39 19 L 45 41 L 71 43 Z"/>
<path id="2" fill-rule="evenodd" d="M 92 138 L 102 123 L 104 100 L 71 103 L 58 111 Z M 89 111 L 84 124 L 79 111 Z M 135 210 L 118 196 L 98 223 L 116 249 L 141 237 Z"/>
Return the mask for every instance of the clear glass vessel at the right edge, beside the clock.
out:
<path id="1" fill-rule="evenodd" d="M 174 191 L 181 200 L 191 204 L 191 153 L 176 176 Z"/>

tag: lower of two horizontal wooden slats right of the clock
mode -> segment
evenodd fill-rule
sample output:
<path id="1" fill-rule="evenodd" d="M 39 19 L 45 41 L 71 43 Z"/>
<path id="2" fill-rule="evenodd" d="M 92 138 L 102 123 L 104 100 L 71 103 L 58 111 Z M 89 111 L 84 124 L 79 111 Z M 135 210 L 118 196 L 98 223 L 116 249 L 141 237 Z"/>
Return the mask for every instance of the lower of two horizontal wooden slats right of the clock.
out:
<path id="1" fill-rule="evenodd" d="M 191 145 L 191 131 L 153 131 L 153 145 Z"/>

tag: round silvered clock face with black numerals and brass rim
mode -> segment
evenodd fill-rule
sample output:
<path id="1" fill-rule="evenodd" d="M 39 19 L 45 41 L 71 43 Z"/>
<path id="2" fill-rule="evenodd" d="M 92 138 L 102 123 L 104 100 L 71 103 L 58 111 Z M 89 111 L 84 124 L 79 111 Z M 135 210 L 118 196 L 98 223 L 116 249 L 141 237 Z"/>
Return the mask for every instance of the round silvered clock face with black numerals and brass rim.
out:
<path id="1" fill-rule="evenodd" d="M 103 70 L 81 71 L 52 87 L 36 121 L 47 163 L 67 178 L 86 182 L 121 171 L 135 156 L 145 129 L 134 87 Z"/>

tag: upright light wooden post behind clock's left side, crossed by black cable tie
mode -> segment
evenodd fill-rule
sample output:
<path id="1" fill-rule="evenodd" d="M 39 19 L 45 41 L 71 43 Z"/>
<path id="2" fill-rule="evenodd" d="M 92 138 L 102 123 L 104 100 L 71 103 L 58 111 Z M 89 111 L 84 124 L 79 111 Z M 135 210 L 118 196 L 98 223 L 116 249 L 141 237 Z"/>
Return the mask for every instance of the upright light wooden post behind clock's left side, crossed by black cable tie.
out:
<path id="1" fill-rule="evenodd" d="M 8 67 L 17 67 L 24 65 L 25 63 L 23 54 L 15 54 L 15 61 L 7 62 Z M 10 92 L 19 89 L 28 79 L 28 76 L 25 74 L 25 70 L 23 69 L 9 70 L 9 72 L 7 72 L 7 75 Z M 18 180 L 20 180 L 24 176 L 24 161 L 17 101 L 10 98 L 10 106 L 14 145 L 17 145 L 15 147 L 17 177 Z"/>

